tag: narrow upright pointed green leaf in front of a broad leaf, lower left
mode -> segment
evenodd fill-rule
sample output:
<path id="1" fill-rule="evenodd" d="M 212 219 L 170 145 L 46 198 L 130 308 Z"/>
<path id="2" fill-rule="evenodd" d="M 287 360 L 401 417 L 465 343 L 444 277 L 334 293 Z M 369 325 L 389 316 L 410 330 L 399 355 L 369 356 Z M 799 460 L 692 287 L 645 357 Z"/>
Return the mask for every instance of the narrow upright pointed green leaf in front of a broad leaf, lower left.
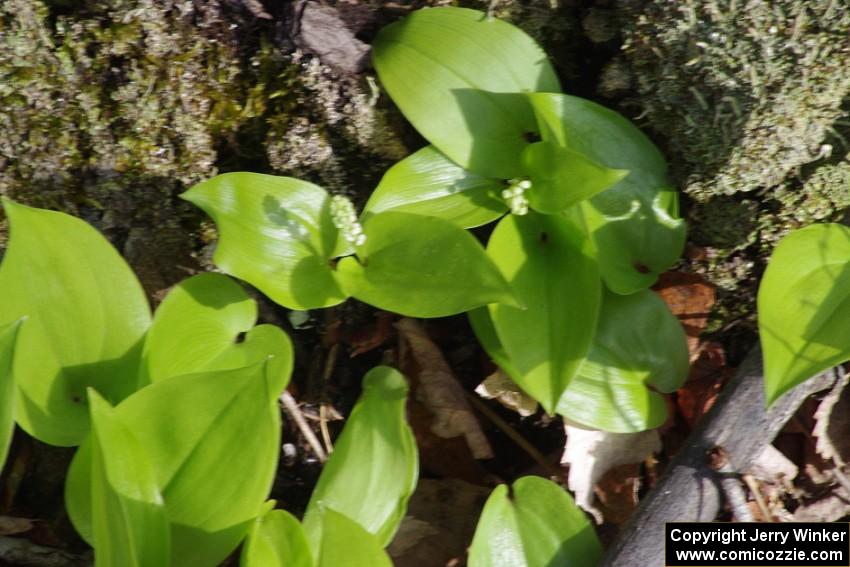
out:
<path id="1" fill-rule="evenodd" d="M 92 530 L 96 567 L 168 567 L 168 517 L 147 451 L 89 390 Z"/>

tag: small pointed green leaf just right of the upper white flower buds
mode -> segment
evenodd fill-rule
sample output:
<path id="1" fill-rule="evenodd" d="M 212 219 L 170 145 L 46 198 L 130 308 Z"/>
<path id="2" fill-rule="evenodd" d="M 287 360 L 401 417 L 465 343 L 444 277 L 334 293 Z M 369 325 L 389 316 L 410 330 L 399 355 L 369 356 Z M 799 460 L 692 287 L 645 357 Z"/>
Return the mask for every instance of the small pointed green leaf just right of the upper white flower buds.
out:
<path id="1" fill-rule="evenodd" d="M 555 142 L 537 142 L 522 156 L 532 187 L 531 207 L 541 213 L 565 211 L 620 182 L 628 171 L 610 169 Z"/>

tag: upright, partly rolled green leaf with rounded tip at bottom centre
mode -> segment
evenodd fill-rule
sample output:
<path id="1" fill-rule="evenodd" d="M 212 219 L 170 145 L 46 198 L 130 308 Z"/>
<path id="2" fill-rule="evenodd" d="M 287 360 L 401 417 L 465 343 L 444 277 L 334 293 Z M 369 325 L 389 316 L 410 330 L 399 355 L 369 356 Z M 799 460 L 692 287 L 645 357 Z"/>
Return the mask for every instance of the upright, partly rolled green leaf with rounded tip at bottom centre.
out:
<path id="1" fill-rule="evenodd" d="M 307 507 L 304 527 L 311 540 L 320 537 L 322 508 L 346 515 L 389 545 L 419 473 L 406 402 L 407 381 L 398 371 L 378 366 L 366 374 Z"/>

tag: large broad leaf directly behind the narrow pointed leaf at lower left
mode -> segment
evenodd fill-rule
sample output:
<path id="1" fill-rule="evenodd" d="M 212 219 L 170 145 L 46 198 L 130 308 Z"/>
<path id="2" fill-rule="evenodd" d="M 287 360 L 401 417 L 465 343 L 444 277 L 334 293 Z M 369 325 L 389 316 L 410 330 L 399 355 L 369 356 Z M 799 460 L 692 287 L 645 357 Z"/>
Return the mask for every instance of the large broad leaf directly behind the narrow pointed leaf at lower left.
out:
<path id="1" fill-rule="evenodd" d="M 280 412 L 267 364 L 175 376 L 139 390 L 115 414 L 143 440 L 171 523 L 173 565 L 218 565 L 262 512 L 277 468 Z M 74 456 L 65 505 L 92 541 L 91 448 Z"/>

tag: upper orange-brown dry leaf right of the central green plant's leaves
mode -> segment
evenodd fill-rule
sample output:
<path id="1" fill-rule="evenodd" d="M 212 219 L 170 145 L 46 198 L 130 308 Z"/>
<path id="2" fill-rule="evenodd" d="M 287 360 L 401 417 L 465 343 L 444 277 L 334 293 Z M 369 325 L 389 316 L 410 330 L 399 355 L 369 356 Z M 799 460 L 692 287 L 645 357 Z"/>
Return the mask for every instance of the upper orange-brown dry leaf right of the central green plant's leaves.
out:
<path id="1" fill-rule="evenodd" d="M 696 274 L 665 272 L 652 288 L 678 317 L 688 337 L 691 361 L 699 355 L 700 334 L 714 305 L 714 286 Z"/>

